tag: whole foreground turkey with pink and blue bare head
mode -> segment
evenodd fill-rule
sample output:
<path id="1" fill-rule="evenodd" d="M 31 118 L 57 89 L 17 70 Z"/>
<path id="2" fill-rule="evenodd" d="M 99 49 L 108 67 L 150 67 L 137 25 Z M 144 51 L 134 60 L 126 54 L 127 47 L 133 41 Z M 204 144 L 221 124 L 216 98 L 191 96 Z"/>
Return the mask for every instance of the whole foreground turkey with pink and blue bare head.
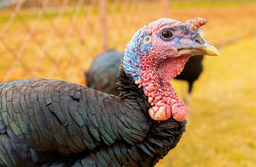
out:
<path id="1" fill-rule="evenodd" d="M 193 55 L 219 55 L 200 37 L 206 19 L 161 18 L 134 34 L 119 96 L 52 79 L 0 84 L 1 166 L 154 166 L 185 131 L 169 81 Z"/>

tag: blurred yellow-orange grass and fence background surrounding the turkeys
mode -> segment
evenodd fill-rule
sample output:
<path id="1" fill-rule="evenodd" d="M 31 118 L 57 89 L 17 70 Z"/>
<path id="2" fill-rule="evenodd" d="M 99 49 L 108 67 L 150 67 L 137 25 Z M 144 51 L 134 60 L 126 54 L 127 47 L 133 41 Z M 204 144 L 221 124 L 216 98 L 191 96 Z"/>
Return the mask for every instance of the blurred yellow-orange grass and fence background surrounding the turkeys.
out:
<path id="1" fill-rule="evenodd" d="M 0 0 L 0 82 L 52 78 L 84 85 L 94 57 L 125 49 L 161 17 L 208 19 L 203 36 L 221 57 L 205 57 L 186 132 L 156 166 L 254 166 L 256 1 Z M 182 94 L 186 83 L 173 81 Z"/>

